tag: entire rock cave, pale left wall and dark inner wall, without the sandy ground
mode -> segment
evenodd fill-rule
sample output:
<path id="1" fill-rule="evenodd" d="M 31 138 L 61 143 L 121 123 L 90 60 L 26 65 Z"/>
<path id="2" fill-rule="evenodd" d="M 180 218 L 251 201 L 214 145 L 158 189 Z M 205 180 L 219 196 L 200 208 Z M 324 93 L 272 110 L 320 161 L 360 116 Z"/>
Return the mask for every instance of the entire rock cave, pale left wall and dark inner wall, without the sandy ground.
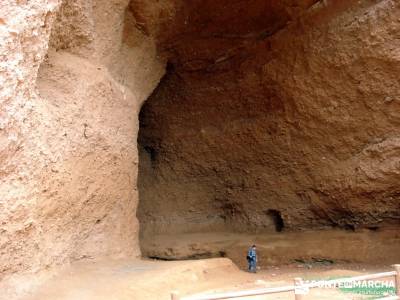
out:
<path id="1" fill-rule="evenodd" d="M 397 1 L 17 2 L 0 18 L 1 278 L 243 266 L 253 243 L 266 265 L 399 259 Z"/>

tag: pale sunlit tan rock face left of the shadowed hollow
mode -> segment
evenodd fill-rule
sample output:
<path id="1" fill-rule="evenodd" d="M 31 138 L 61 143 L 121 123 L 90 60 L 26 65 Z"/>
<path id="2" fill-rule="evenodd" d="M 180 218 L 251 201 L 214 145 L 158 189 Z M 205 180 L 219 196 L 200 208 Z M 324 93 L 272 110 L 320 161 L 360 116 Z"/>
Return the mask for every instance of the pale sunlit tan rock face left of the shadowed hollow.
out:
<path id="1" fill-rule="evenodd" d="M 0 5 L 0 279 L 139 256 L 136 138 L 164 72 L 155 43 L 129 1 L 20 2 Z"/>

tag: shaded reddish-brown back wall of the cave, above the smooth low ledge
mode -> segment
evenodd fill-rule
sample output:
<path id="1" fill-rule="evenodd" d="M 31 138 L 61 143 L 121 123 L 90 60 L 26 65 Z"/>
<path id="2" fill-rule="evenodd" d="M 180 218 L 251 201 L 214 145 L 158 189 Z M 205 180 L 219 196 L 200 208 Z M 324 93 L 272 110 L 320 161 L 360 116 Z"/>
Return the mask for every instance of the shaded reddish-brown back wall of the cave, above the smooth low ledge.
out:
<path id="1" fill-rule="evenodd" d="M 185 36 L 141 114 L 144 238 L 398 225 L 399 4 L 327 3 Z"/>

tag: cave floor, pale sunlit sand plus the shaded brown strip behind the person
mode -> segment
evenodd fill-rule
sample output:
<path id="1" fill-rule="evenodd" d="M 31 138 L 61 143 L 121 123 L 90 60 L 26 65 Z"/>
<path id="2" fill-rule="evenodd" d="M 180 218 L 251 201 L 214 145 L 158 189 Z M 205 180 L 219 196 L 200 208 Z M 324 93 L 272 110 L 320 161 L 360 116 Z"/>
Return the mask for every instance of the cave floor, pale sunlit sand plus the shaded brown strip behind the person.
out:
<path id="1" fill-rule="evenodd" d="M 167 300 L 172 291 L 185 296 L 292 285 L 296 277 L 327 280 L 377 273 L 399 262 L 399 238 L 399 232 L 389 228 L 153 236 L 142 239 L 142 253 L 158 259 L 82 260 L 57 273 L 47 270 L 16 279 L 12 286 L 18 290 L 0 285 L 0 300 Z M 257 274 L 245 271 L 245 253 L 252 243 L 258 245 Z M 392 292 L 324 288 L 311 290 L 307 299 L 376 299 L 374 294 Z M 243 299 L 294 296 L 283 293 Z"/>

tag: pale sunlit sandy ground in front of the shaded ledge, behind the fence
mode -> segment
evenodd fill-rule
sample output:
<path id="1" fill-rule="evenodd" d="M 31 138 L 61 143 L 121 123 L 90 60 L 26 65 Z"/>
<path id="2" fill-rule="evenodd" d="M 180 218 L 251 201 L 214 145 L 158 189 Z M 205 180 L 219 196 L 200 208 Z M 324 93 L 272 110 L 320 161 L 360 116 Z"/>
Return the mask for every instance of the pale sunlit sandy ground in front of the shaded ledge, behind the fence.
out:
<path id="1" fill-rule="evenodd" d="M 180 295 L 254 289 L 292 284 L 294 277 L 321 279 L 390 270 L 390 267 L 303 264 L 270 266 L 250 274 L 229 259 L 191 261 L 114 261 L 78 263 L 48 280 L 24 300 L 144 300 Z M 1 298 L 1 297 L 0 297 Z M 294 299 L 293 294 L 241 299 Z M 336 289 L 314 289 L 307 299 L 368 299 Z M 2 299 L 3 300 L 3 299 Z"/>

